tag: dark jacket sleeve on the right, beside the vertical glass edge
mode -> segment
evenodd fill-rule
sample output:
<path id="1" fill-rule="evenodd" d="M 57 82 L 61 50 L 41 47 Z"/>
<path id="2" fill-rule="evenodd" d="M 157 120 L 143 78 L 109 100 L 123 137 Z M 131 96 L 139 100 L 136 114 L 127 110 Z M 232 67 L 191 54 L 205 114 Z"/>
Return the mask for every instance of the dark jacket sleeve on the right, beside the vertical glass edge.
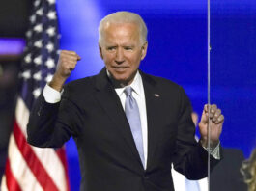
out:
<path id="1" fill-rule="evenodd" d="M 180 88 L 181 111 L 178 122 L 174 168 L 188 179 L 208 175 L 208 152 L 195 141 L 195 126 L 191 119 L 191 105 L 185 91 Z M 211 156 L 211 169 L 218 162 Z"/>

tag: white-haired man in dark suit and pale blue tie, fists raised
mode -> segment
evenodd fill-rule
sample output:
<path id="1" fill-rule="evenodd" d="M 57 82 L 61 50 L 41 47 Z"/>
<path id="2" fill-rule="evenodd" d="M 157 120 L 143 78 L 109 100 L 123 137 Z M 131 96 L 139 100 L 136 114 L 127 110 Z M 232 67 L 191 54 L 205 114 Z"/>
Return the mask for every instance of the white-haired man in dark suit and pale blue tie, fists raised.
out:
<path id="1" fill-rule="evenodd" d="M 138 69 L 148 46 L 142 18 L 109 14 L 101 20 L 99 34 L 105 68 L 63 88 L 80 57 L 62 51 L 54 77 L 31 113 L 28 142 L 61 147 L 72 136 L 85 191 L 172 191 L 172 163 L 187 178 L 206 177 L 207 125 L 214 166 L 220 159 L 221 111 L 205 106 L 197 143 L 184 90 Z"/>

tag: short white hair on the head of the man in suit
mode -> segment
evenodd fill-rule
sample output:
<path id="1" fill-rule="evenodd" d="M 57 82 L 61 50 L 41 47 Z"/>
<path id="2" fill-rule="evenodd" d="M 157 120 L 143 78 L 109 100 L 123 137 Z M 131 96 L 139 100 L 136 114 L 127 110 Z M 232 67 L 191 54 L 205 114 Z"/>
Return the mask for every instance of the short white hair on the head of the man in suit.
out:
<path id="1" fill-rule="evenodd" d="M 116 12 L 113 14 L 108 14 L 101 19 L 99 25 L 99 43 L 102 41 L 104 27 L 107 23 L 134 23 L 139 28 L 139 36 L 142 44 L 147 41 L 148 29 L 144 20 L 139 14 L 134 14 L 131 12 Z"/>

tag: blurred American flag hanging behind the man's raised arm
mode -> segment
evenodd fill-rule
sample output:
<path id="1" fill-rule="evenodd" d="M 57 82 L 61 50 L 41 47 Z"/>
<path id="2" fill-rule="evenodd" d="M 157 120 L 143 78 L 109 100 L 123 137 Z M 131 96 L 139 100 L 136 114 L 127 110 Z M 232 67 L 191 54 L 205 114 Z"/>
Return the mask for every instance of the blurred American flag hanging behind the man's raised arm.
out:
<path id="1" fill-rule="evenodd" d="M 26 125 L 34 101 L 55 71 L 59 33 L 55 0 L 36 0 L 26 33 L 14 130 L 10 137 L 1 191 L 69 191 L 65 149 L 40 149 L 27 144 Z"/>

